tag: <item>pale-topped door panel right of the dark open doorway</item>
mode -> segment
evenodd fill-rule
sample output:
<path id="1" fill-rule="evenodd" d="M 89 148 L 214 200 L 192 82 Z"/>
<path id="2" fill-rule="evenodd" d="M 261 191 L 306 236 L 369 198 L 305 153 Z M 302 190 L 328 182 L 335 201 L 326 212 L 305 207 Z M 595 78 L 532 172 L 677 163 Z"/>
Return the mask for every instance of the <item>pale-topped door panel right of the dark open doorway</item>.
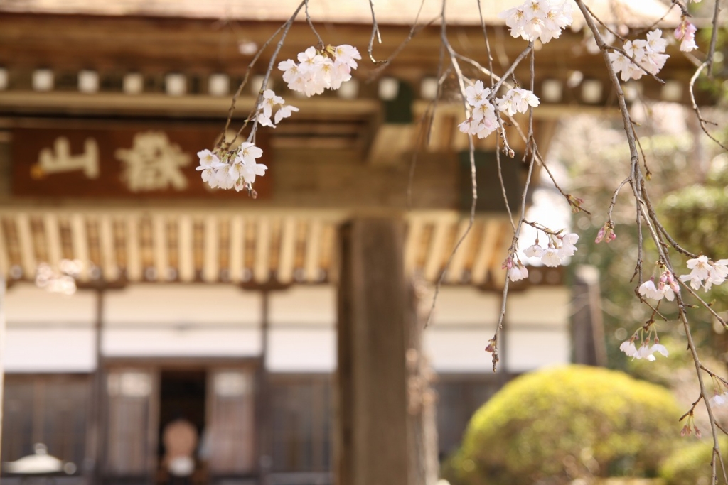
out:
<path id="1" fill-rule="evenodd" d="M 207 380 L 205 446 L 212 476 L 256 469 L 255 369 L 213 369 Z"/>

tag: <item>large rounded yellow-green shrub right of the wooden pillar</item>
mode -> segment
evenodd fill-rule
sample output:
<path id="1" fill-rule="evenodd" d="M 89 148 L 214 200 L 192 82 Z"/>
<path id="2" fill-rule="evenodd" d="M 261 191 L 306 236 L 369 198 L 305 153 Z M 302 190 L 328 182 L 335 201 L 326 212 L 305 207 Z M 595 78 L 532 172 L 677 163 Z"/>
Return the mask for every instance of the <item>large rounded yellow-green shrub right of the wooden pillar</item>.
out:
<path id="1" fill-rule="evenodd" d="M 680 414 L 668 390 L 622 372 L 566 366 L 526 374 L 475 413 L 443 474 L 456 485 L 654 476 L 676 444 Z"/>

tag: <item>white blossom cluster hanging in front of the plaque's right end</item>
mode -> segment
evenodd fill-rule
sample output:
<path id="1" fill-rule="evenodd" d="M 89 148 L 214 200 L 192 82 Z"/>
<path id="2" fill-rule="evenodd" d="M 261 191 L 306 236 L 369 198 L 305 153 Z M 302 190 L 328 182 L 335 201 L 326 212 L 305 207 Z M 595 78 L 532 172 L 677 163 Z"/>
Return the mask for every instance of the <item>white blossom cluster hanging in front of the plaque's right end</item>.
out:
<path id="1" fill-rule="evenodd" d="M 268 168 L 256 161 L 262 155 L 260 148 L 248 142 L 240 145 L 234 158 L 232 155 L 224 157 L 225 161 L 210 150 L 202 150 L 197 152 L 197 170 L 202 172 L 202 181 L 207 182 L 210 188 L 235 188 L 239 192 L 243 189 L 252 190 L 256 176 L 262 177 Z"/>

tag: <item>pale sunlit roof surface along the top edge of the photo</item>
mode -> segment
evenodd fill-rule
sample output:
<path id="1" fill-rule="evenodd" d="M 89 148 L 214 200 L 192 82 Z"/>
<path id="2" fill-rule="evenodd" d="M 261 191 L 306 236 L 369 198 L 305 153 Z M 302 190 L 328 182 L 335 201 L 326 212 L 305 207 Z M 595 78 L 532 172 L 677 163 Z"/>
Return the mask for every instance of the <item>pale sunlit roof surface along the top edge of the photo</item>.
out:
<path id="1" fill-rule="evenodd" d="M 480 0 L 483 18 L 488 24 L 502 24 L 498 13 L 521 4 L 522 0 Z M 294 12 L 299 0 L 4 0 L 0 11 L 62 15 L 139 15 L 149 17 L 215 18 L 234 20 L 285 20 Z M 416 0 L 376 0 L 376 17 L 382 24 L 414 23 L 420 7 Z M 441 0 L 423 0 L 421 22 L 440 13 Z M 668 9 L 660 0 L 587 0 L 587 4 L 605 22 L 621 20 L 631 25 L 649 25 Z M 448 0 L 446 16 L 450 23 L 478 25 L 477 0 Z M 676 22 L 678 12 L 669 21 Z M 371 23 L 366 0 L 312 0 L 309 14 L 316 22 Z M 578 15 L 578 14 L 577 14 Z M 304 19 L 303 12 L 299 20 Z"/>

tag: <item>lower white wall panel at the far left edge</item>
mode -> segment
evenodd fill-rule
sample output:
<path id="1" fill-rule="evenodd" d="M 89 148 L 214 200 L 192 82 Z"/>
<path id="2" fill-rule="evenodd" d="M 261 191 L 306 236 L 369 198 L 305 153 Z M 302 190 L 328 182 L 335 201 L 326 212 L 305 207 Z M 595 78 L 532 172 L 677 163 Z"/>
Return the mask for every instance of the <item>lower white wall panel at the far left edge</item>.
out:
<path id="1" fill-rule="evenodd" d="M 90 327 L 11 326 L 5 335 L 6 372 L 91 372 L 96 367 Z"/>

